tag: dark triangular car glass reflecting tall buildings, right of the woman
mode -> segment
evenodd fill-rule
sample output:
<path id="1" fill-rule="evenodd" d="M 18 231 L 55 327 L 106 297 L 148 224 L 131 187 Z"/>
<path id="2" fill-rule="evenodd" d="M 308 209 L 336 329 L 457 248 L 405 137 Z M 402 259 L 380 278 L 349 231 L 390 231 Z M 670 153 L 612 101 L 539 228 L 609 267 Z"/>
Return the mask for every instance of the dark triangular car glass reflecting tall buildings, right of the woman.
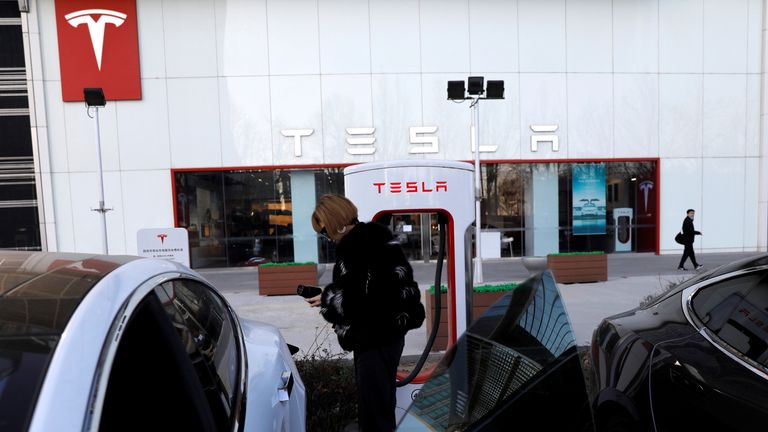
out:
<path id="1" fill-rule="evenodd" d="M 545 407 L 554 415 L 541 416 Z M 494 304 L 422 387 L 398 430 L 539 430 L 590 427 L 584 375 L 552 274 L 534 276 Z"/>

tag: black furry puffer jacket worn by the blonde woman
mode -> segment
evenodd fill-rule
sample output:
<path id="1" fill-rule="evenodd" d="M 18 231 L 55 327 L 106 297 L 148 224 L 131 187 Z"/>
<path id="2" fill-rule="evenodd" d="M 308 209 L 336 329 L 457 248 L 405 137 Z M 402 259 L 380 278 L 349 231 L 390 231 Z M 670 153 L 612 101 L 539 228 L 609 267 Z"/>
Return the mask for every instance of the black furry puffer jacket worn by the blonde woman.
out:
<path id="1" fill-rule="evenodd" d="M 387 345 L 424 322 L 413 269 L 386 227 L 359 223 L 339 242 L 320 313 L 347 351 Z"/>

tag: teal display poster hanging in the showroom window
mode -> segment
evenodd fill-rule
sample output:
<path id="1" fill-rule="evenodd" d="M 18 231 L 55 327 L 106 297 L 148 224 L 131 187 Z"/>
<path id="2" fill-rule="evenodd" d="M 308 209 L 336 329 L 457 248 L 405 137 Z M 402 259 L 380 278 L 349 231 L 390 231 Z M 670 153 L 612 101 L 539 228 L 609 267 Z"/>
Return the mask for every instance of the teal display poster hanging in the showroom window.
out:
<path id="1" fill-rule="evenodd" d="M 605 163 L 573 165 L 573 235 L 605 234 Z"/>

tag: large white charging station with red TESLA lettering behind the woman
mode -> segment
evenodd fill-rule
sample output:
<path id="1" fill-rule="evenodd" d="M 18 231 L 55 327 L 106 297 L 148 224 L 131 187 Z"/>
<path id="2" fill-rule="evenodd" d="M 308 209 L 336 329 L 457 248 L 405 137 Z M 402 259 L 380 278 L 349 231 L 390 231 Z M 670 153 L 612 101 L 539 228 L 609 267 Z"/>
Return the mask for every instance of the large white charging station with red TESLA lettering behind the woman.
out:
<path id="1" fill-rule="evenodd" d="M 474 168 L 465 162 L 371 162 L 344 169 L 344 194 L 357 206 L 361 221 L 394 213 L 441 213 L 448 220 L 446 267 L 448 345 L 467 329 L 472 310 L 471 238 L 475 220 Z M 410 406 L 427 378 L 423 371 L 411 384 L 398 388 L 397 417 Z"/>

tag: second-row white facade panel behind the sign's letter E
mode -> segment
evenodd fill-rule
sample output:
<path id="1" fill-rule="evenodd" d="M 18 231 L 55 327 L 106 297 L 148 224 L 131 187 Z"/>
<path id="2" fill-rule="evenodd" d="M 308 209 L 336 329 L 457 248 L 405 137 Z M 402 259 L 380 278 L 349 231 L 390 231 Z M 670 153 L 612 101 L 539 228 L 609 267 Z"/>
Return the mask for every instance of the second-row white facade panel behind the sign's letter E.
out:
<path id="1" fill-rule="evenodd" d="M 323 77 L 323 161 L 359 163 L 374 159 L 374 154 L 381 151 L 378 136 L 381 131 L 373 123 L 373 105 L 371 103 L 371 76 L 334 75 Z M 372 133 L 347 129 L 373 128 Z M 347 140 L 353 140 L 348 144 Z M 371 144 L 355 144 L 356 139 L 364 139 Z M 352 154 L 357 153 L 357 154 Z"/>

